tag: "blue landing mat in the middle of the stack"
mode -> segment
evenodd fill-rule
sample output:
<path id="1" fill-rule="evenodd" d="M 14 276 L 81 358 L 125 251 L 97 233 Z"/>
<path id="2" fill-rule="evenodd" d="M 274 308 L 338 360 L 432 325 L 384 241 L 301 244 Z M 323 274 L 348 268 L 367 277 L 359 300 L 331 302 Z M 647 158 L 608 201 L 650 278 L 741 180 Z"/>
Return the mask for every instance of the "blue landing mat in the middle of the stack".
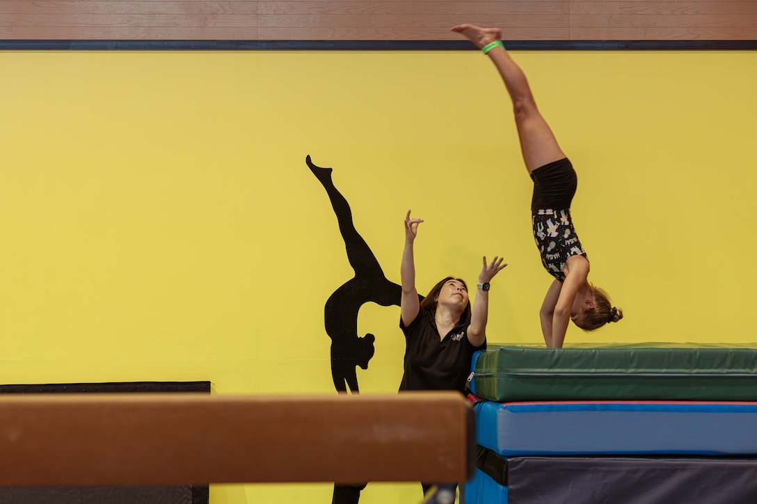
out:
<path id="1" fill-rule="evenodd" d="M 481 401 L 474 409 L 477 443 L 500 456 L 757 455 L 751 402 Z"/>

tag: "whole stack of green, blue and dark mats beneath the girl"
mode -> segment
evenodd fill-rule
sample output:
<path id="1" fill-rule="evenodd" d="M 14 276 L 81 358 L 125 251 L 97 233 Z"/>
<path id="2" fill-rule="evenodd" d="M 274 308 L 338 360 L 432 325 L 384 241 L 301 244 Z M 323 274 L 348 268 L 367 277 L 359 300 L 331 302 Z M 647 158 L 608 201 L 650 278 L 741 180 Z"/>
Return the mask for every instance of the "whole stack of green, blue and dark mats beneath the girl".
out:
<path id="1" fill-rule="evenodd" d="M 466 504 L 757 502 L 757 350 L 490 345 Z"/>

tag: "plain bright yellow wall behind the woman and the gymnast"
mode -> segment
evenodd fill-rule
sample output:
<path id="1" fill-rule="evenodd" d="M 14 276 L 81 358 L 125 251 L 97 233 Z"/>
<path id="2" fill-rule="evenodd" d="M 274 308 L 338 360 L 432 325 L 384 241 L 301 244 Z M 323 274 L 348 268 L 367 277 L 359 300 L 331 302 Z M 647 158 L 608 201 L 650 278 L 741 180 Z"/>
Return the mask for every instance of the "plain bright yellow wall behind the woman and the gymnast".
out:
<path id="1" fill-rule="evenodd" d="M 517 52 L 579 174 L 590 279 L 625 310 L 566 341 L 757 341 L 757 53 Z M 352 276 L 326 192 L 399 282 L 493 282 L 489 341 L 538 343 L 550 276 L 494 67 L 471 52 L 0 53 L 0 383 L 210 380 L 333 393 L 323 305 Z M 369 304 L 365 393 L 397 389 L 399 309 Z M 251 454 L 251 456 L 254 456 Z M 213 504 L 329 502 L 213 487 Z M 361 502 L 416 502 L 372 484 Z M 306 498 L 307 497 L 307 498 Z"/>

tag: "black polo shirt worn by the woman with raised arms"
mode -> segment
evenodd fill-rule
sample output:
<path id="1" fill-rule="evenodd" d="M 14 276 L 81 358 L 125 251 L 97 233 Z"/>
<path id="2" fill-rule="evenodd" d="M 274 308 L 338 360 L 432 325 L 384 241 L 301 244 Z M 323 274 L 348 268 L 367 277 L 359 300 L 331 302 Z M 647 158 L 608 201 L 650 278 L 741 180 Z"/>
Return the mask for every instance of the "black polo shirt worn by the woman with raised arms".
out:
<path id="1" fill-rule="evenodd" d="M 406 342 L 400 391 L 459 390 L 464 393 L 473 353 L 486 348 L 486 341 L 481 347 L 470 344 L 469 325 L 458 324 L 444 338 L 439 338 L 434 316 L 422 308 L 407 327 L 400 317 Z"/>

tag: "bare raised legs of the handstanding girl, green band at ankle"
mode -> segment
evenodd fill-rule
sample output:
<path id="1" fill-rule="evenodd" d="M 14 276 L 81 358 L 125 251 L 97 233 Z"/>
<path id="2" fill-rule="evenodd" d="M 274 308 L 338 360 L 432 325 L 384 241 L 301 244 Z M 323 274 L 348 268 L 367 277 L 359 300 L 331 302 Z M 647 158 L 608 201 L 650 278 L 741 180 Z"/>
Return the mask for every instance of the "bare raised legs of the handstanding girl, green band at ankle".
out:
<path id="1" fill-rule="evenodd" d="M 484 45 L 502 38 L 502 30 L 498 28 L 461 24 L 454 26 L 452 30 L 466 36 L 478 48 L 483 48 Z M 544 117 L 541 117 L 536 107 L 536 101 L 528 87 L 528 80 L 520 67 L 512 61 L 501 46 L 491 49 L 487 54 L 500 72 L 512 100 L 521 152 L 528 173 L 547 163 L 565 158 L 550 126 L 547 125 Z"/>

